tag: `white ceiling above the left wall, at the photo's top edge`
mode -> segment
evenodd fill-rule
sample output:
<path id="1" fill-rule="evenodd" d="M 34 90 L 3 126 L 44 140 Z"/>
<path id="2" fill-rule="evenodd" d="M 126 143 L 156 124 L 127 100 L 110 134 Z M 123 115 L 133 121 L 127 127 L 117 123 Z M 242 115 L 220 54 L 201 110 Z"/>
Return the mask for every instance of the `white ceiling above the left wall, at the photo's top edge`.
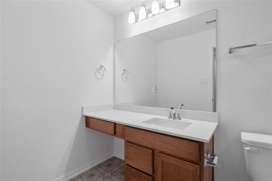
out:
<path id="1" fill-rule="evenodd" d="M 87 2 L 114 17 L 140 4 L 142 1 L 143 0 L 88 0 Z"/>

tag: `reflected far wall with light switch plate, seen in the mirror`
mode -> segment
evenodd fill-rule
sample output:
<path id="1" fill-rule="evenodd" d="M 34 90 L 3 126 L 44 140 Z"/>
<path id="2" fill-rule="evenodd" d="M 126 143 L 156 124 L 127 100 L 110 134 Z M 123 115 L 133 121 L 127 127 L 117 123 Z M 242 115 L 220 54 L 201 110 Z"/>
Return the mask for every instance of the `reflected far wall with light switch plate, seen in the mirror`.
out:
<path id="1" fill-rule="evenodd" d="M 157 44 L 157 107 L 178 108 L 184 104 L 185 110 L 210 111 L 211 81 L 200 84 L 199 78 L 211 80 L 210 46 L 215 41 L 213 29 Z"/>

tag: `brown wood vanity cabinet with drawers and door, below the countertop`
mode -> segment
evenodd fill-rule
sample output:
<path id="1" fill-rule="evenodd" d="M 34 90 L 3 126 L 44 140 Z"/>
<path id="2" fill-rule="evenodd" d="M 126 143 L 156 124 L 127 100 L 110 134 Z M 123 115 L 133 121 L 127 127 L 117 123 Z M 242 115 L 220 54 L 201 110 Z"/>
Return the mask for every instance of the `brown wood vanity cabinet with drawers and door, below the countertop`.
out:
<path id="1" fill-rule="evenodd" d="M 213 181 L 209 143 L 86 117 L 86 127 L 125 139 L 125 181 Z"/>

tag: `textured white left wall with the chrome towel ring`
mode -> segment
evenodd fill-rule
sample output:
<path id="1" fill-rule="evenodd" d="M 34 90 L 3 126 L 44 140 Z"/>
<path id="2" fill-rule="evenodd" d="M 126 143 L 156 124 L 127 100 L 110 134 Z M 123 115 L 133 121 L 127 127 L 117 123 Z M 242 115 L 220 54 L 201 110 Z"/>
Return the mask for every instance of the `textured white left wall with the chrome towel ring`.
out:
<path id="1" fill-rule="evenodd" d="M 86 1 L 1 1 L 1 180 L 53 180 L 112 152 L 81 115 L 113 102 L 112 75 L 113 17 Z"/>

